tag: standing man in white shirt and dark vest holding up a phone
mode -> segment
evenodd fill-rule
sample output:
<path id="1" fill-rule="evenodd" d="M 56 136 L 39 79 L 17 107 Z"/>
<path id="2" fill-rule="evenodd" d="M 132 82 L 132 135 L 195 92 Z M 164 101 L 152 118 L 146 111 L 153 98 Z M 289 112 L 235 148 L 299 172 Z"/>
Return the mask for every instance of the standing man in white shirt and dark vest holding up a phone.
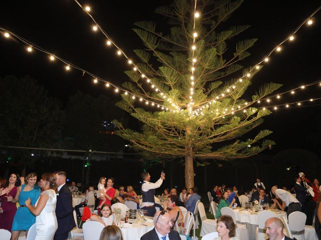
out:
<path id="1" fill-rule="evenodd" d="M 155 182 L 150 181 L 150 174 L 148 172 L 141 173 L 143 183 L 141 184 L 142 203 L 141 208 L 147 210 L 147 216 L 153 216 L 156 212 L 154 189 L 162 185 L 165 180 L 165 173 L 162 171 L 161 177 Z"/>

